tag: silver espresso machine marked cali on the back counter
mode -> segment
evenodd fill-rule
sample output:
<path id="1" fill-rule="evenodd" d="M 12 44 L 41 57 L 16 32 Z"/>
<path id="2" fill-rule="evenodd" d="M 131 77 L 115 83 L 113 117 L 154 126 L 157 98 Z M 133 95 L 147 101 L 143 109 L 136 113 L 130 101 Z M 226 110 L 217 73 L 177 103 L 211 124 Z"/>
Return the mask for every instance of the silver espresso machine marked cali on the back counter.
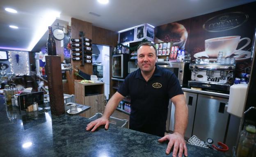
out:
<path id="1" fill-rule="evenodd" d="M 190 70 L 189 87 L 228 93 L 233 85 L 235 64 L 190 64 Z"/>

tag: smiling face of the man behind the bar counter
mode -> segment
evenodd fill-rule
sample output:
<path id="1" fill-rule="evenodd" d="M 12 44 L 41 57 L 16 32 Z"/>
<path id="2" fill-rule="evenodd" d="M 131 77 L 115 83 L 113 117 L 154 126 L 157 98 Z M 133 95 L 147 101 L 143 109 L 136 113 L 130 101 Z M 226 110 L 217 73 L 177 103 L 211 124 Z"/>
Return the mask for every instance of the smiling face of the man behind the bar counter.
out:
<path id="1" fill-rule="evenodd" d="M 137 51 L 139 69 L 149 73 L 153 71 L 157 60 L 155 49 L 152 46 L 143 45 Z"/>

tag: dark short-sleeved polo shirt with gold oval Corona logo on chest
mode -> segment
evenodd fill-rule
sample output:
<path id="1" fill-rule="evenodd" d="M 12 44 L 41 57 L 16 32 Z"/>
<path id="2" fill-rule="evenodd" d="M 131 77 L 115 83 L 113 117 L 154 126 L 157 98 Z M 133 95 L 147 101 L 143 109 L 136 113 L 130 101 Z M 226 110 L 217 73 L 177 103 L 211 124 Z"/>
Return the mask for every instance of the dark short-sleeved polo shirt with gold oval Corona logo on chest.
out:
<path id="1" fill-rule="evenodd" d="M 161 137 L 165 135 L 169 99 L 183 94 L 176 75 L 157 65 L 148 82 L 140 69 L 130 73 L 118 93 L 131 97 L 130 129 Z"/>

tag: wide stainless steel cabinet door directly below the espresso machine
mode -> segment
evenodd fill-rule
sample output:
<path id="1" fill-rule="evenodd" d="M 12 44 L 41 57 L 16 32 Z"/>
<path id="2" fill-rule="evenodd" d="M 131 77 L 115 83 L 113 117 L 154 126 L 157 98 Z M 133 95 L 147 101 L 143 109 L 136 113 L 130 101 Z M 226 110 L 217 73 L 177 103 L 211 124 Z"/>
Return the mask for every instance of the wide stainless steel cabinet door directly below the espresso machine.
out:
<path id="1" fill-rule="evenodd" d="M 214 144 L 224 142 L 229 113 L 224 108 L 228 99 L 198 95 L 197 111 L 194 120 L 193 135 L 207 141 L 213 139 Z"/>

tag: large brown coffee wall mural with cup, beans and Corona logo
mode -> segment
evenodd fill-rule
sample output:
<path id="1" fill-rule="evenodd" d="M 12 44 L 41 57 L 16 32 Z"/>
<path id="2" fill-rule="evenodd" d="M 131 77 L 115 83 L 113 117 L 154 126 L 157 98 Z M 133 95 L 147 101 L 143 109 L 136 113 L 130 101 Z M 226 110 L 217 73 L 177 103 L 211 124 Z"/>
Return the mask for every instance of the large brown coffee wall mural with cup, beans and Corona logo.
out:
<path id="1" fill-rule="evenodd" d="M 192 61 L 217 60 L 219 51 L 235 62 L 251 62 L 256 2 L 155 27 L 155 43 L 173 41 Z M 185 40 L 181 40 L 185 38 Z M 182 42 L 182 44 L 175 45 Z"/>

